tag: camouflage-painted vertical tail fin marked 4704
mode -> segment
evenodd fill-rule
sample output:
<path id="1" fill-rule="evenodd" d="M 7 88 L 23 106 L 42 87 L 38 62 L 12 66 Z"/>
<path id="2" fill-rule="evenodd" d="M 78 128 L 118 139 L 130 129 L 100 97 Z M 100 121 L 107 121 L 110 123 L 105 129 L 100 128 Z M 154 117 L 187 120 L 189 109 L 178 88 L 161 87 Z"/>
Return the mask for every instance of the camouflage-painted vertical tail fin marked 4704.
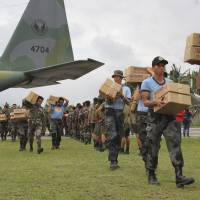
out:
<path id="1" fill-rule="evenodd" d="M 63 0 L 31 0 L 1 57 L 1 70 L 27 71 L 74 60 Z"/>

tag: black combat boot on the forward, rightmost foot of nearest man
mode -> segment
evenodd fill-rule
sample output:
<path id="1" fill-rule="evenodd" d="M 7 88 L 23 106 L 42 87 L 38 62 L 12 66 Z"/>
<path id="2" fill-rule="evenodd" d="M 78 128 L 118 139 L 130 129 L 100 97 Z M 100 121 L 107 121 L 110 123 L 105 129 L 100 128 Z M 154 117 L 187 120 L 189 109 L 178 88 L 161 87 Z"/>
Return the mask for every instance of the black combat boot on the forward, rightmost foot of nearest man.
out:
<path id="1" fill-rule="evenodd" d="M 175 168 L 175 174 L 176 174 L 176 187 L 177 188 L 183 188 L 184 185 L 190 185 L 195 182 L 194 178 L 187 178 L 183 176 L 182 174 L 182 167 L 176 167 Z"/>

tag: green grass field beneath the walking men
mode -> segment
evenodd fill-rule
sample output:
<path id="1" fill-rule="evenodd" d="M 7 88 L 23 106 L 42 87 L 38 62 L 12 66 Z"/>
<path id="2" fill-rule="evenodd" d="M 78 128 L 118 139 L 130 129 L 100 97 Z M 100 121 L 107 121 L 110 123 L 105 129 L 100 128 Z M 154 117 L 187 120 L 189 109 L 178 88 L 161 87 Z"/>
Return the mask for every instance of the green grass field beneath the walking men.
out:
<path id="1" fill-rule="evenodd" d="M 160 186 L 150 186 L 138 156 L 135 140 L 130 155 L 120 155 L 121 168 L 110 171 L 107 152 L 100 153 L 78 141 L 62 141 L 60 150 L 50 150 L 43 141 L 41 155 L 19 152 L 18 142 L 0 141 L 1 200 L 198 200 L 200 199 L 200 139 L 184 139 L 184 174 L 195 184 L 177 189 L 166 145 L 159 156 Z"/>

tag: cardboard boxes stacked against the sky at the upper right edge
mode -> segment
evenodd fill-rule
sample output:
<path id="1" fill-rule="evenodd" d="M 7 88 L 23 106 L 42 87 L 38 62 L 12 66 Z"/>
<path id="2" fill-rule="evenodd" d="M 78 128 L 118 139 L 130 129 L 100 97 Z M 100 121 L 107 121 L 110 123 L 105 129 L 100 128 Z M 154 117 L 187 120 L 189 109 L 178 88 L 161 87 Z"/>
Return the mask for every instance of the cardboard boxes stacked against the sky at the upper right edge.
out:
<path id="1" fill-rule="evenodd" d="M 200 64 L 200 33 L 192 33 L 187 37 L 184 61 Z"/>

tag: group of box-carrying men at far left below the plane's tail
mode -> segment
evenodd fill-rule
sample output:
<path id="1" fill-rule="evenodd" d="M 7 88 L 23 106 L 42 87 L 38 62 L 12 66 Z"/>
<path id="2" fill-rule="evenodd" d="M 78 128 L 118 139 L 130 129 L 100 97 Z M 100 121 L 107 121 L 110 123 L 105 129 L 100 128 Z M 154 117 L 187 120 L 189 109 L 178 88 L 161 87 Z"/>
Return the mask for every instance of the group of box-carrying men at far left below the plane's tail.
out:
<path id="1" fill-rule="evenodd" d="M 64 104 L 65 101 L 65 104 Z M 43 97 L 39 96 L 35 104 L 31 104 L 23 100 L 22 107 L 27 111 L 26 118 L 12 118 L 11 113 L 17 108 L 13 104 L 9 108 L 8 104 L 0 111 L 6 114 L 6 120 L 0 121 L 0 134 L 2 141 L 6 140 L 6 136 L 10 133 L 12 141 L 19 137 L 20 151 L 26 149 L 27 142 L 30 145 L 30 152 L 33 152 L 34 137 L 37 143 L 37 153 L 43 152 L 41 137 L 45 135 L 46 128 L 52 136 L 52 149 L 59 149 L 61 142 L 61 135 L 63 135 L 63 119 L 65 108 L 67 107 L 68 100 L 60 97 L 56 105 L 46 105 L 43 108 Z M 20 108 L 20 107 L 18 107 Z M 10 129 L 8 129 L 10 127 Z"/>

